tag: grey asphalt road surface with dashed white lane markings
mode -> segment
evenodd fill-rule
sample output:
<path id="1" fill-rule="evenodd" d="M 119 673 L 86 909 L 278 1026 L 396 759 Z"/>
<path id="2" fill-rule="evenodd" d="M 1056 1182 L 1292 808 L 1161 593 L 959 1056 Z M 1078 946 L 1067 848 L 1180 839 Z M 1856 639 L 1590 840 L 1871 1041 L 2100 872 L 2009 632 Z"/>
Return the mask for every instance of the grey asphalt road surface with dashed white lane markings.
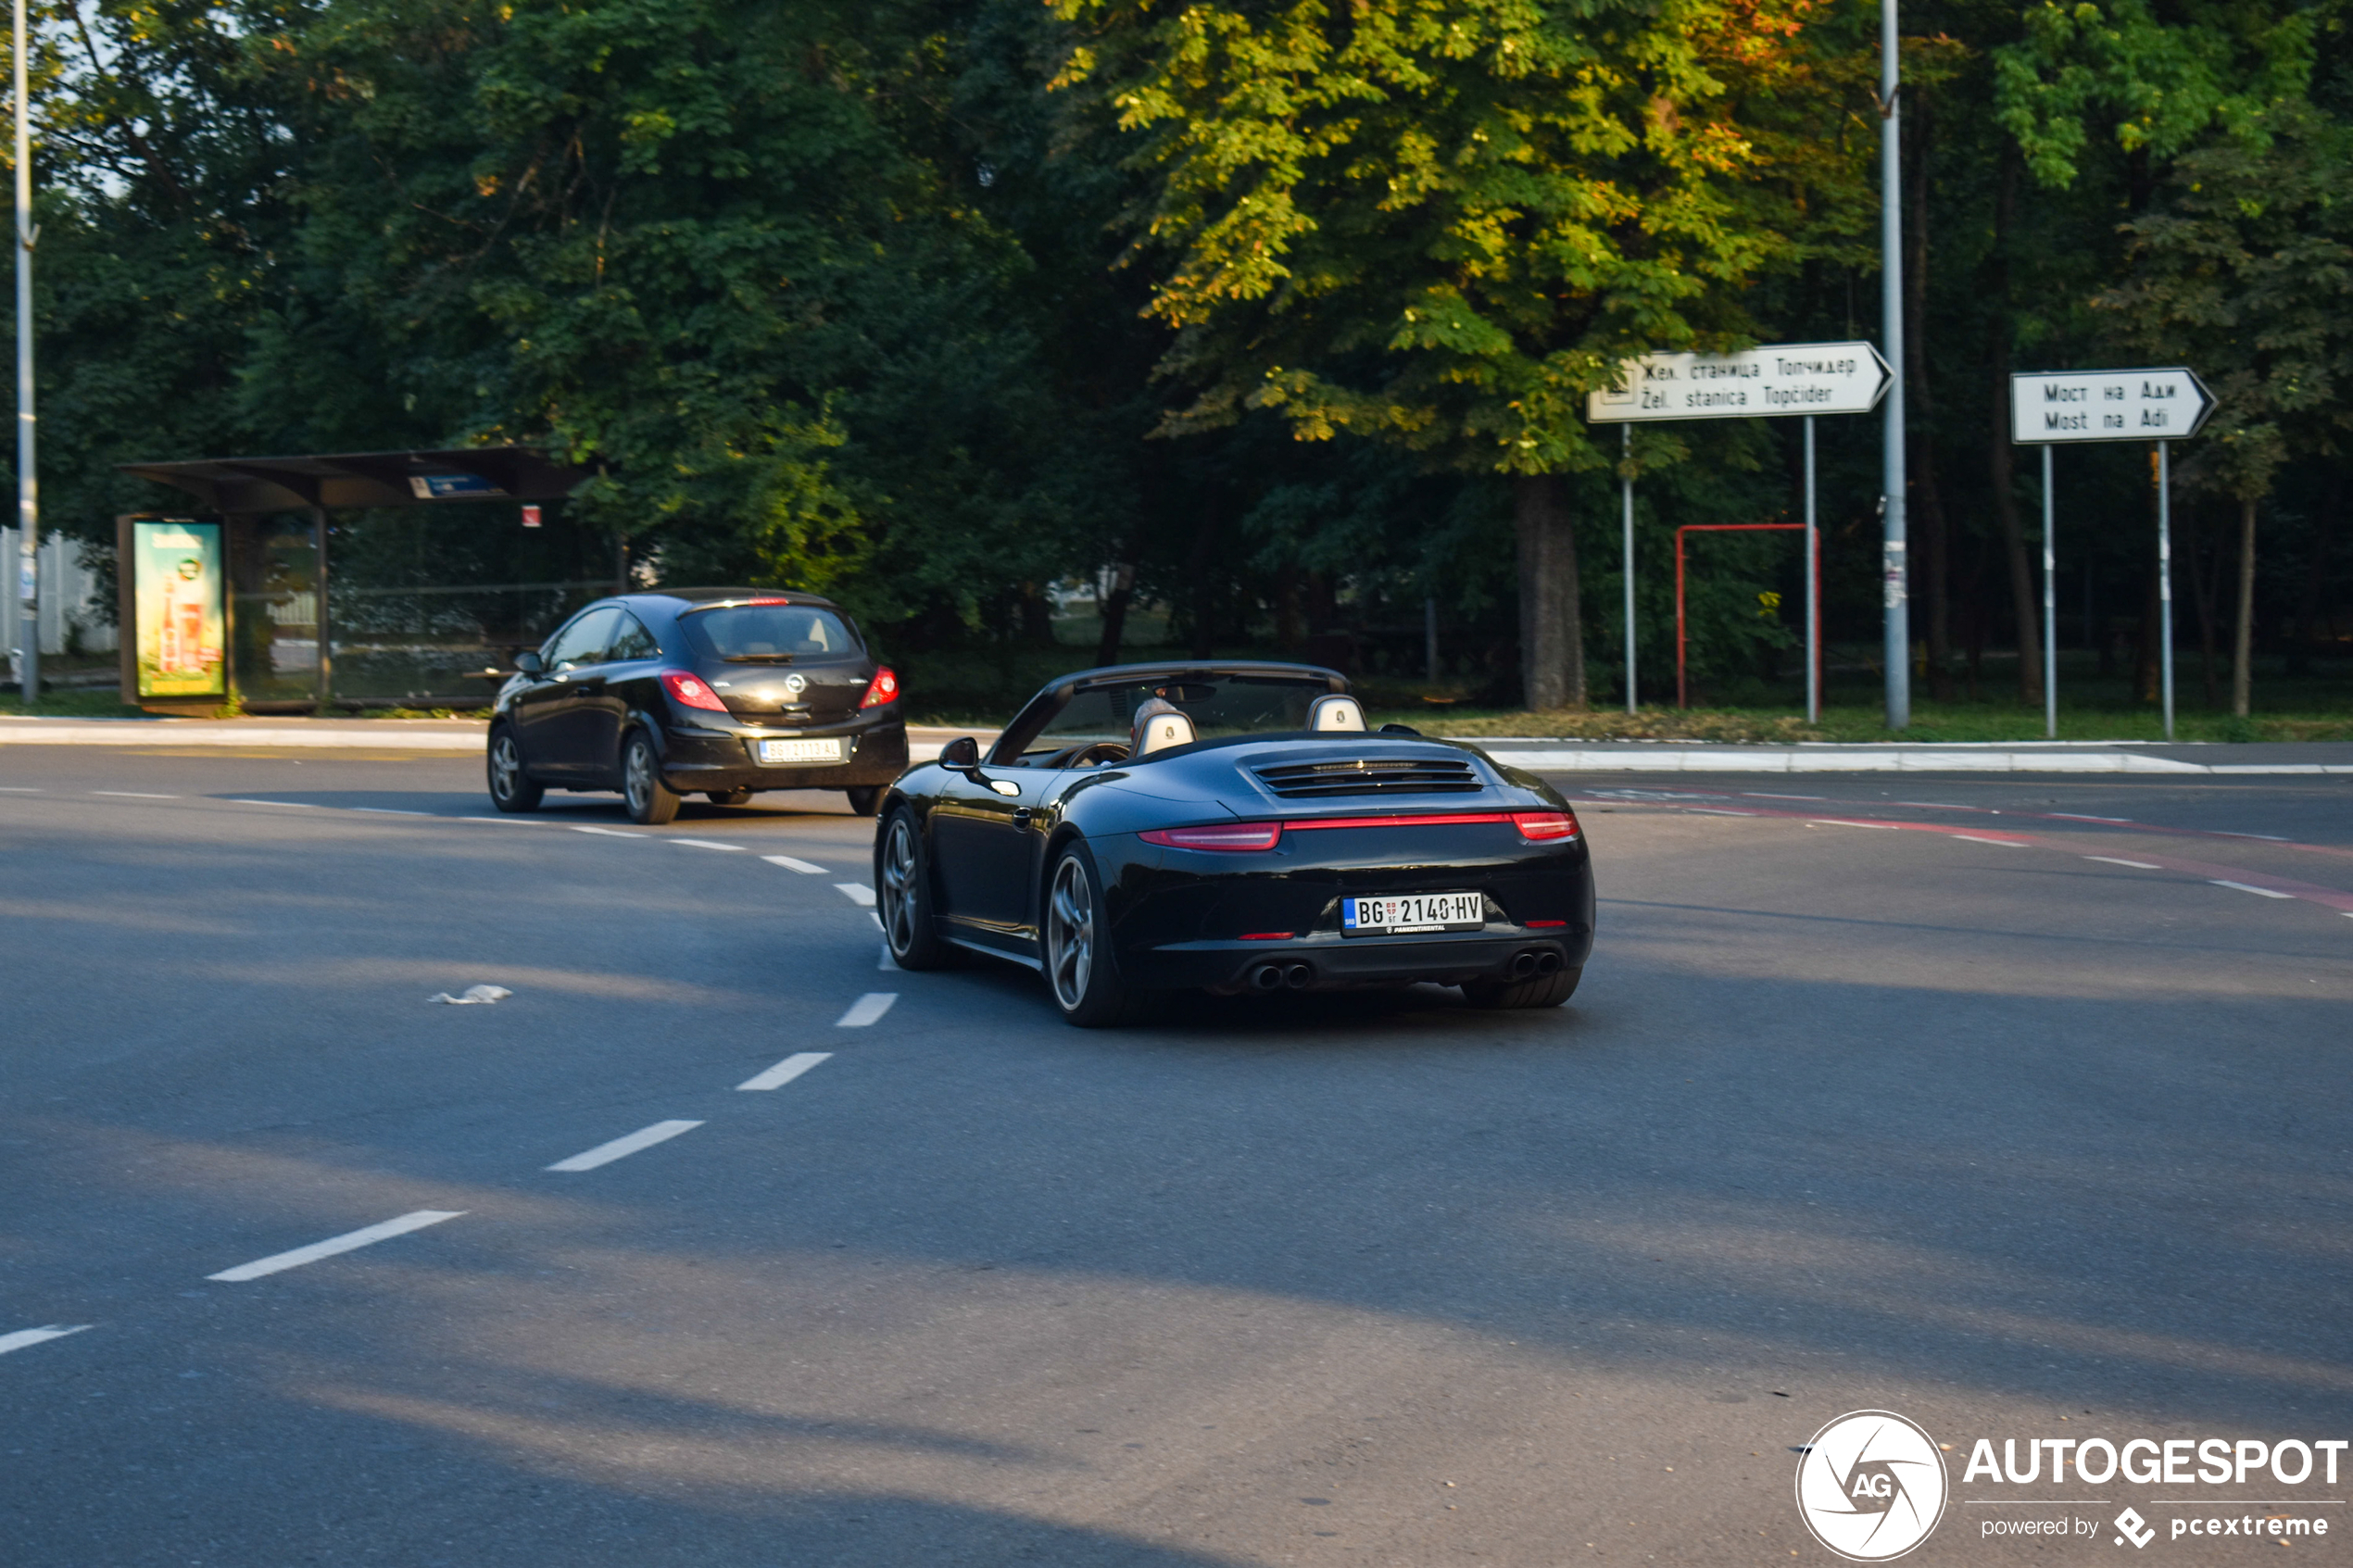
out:
<path id="1" fill-rule="evenodd" d="M 2115 1561 L 1972 1443 L 2353 1436 L 2353 780 L 1562 783 L 1569 1006 L 1080 1032 L 838 797 L 9 748 L 0 1561 L 1826 1563 L 1857 1408 Z"/>

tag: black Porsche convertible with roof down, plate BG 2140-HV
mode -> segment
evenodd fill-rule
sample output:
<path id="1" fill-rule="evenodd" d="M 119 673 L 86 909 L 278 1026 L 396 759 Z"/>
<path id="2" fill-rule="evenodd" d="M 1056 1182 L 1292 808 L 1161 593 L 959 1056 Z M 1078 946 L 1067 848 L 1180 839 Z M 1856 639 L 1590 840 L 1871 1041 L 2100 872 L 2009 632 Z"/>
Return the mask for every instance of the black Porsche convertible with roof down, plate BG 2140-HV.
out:
<path id="1" fill-rule="evenodd" d="M 1075 1025 L 1155 992 L 1435 980 L 1558 1006 L 1593 947 L 1577 813 L 1529 773 L 1384 724 L 1313 665 L 1080 670 L 981 755 L 882 799 L 875 893 L 901 969 L 1028 964 Z"/>

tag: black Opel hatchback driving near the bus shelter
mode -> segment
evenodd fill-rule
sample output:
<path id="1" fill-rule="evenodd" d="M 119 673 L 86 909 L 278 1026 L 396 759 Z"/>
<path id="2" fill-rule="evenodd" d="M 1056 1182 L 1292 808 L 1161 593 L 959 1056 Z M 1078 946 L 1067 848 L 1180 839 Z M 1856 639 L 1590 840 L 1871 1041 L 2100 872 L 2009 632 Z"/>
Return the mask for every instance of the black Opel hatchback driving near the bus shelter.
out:
<path id="1" fill-rule="evenodd" d="M 664 588 L 598 599 L 515 656 L 489 719 L 489 799 L 619 790 L 638 823 L 685 795 L 845 790 L 873 816 L 906 771 L 899 677 L 809 592 Z"/>

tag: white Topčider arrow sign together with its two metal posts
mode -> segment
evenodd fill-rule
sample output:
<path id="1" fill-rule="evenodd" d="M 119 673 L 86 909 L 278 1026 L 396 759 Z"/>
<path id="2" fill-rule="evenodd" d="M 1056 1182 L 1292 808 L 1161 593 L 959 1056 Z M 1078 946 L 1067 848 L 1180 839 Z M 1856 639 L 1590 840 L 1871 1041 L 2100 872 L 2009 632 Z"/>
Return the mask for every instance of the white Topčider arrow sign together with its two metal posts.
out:
<path id="1" fill-rule="evenodd" d="M 1805 722 L 1821 722 L 1821 538 L 1814 529 L 1814 416 L 1868 414 L 1887 395 L 1887 360 L 1871 343 L 1767 343 L 1737 355 L 1642 355 L 1619 386 L 1586 395 L 1586 421 L 1626 425 L 1619 451 L 1626 531 L 1626 712 L 1633 658 L 1633 425 L 1654 418 L 1805 418 Z M 1699 524 L 1694 524 L 1699 527 Z M 1680 658 L 1678 658 L 1680 663 Z"/>

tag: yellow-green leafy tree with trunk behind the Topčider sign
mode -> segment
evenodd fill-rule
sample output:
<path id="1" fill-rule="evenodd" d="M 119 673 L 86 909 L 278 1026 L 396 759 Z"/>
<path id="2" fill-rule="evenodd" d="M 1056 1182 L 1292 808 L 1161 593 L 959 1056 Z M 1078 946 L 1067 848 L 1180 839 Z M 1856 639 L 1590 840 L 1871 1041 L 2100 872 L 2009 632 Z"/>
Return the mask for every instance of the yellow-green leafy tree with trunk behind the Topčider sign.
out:
<path id="1" fill-rule="evenodd" d="M 1751 280 L 1854 240 L 1852 40 L 1777 0 L 1059 9 L 1061 80 L 1151 174 L 1129 223 L 1195 390 L 1167 430 L 1280 409 L 1511 475 L 1525 698 L 1584 703 L 1562 475 L 1614 461 L 1584 395 L 1751 336 Z"/>

